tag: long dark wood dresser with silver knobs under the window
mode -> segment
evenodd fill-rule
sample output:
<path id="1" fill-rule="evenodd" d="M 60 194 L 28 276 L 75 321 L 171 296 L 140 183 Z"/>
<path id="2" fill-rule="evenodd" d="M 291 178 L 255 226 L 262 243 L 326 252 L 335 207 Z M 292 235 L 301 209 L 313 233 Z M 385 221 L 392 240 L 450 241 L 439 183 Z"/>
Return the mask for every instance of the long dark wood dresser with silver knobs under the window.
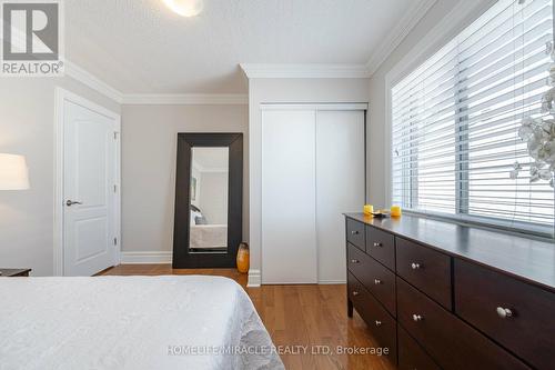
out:
<path id="1" fill-rule="evenodd" d="M 353 308 L 403 370 L 554 369 L 555 244 L 346 213 Z"/>

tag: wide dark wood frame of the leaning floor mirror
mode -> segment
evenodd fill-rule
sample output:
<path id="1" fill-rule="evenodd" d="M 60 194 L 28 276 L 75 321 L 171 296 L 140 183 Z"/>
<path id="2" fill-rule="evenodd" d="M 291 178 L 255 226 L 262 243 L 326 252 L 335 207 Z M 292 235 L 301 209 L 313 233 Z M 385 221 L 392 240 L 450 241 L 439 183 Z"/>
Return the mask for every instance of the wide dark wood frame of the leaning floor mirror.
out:
<path id="1" fill-rule="evenodd" d="M 191 253 L 190 204 L 192 148 L 228 147 L 230 174 L 228 197 L 228 252 Z M 243 238 L 243 134 L 242 133 L 178 133 L 175 178 L 175 218 L 173 227 L 173 268 L 232 268 L 239 243 Z"/>

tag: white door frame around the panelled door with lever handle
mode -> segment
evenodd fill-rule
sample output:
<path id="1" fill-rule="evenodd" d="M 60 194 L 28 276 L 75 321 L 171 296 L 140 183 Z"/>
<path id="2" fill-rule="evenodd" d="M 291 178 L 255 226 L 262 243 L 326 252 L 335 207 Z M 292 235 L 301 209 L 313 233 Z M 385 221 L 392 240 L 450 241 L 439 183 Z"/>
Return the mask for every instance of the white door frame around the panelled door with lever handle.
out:
<path id="1" fill-rule="evenodd" d="M 102 114 L 115 122 L 115 238 L 118 244 L 114 248 L 113 264 L 117 266 L 121 261 L 121 116 L 85 98 L 82 98 L 71 91 L 56 88 L 54 99 L 54 234 L 53 234 L 53 272 L 54 276 L 63 277 L 63 122 L 64 122 L 64 104 L 72 102 L 83 108 L 90 109 L 99 114 Z"/>

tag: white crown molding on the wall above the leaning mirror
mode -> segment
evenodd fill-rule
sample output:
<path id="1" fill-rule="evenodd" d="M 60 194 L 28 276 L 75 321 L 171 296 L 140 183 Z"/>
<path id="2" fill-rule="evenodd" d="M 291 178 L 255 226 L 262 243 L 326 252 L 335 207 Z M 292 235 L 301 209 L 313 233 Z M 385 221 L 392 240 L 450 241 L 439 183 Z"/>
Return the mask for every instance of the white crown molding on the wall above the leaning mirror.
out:
<path id="1" fill-rule="evenodd" d="M 249 96 L 242 93 L 128 93 L 122 104 L 248 104 Z"/>

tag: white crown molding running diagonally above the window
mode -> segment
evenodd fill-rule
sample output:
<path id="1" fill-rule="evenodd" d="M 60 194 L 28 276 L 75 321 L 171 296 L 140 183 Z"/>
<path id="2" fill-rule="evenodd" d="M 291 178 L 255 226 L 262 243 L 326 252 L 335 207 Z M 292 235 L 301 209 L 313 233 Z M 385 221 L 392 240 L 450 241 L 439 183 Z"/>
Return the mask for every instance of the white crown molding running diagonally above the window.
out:
<path id="1" fill-rule="evenodd" d="M 382 41 L 376 48 L 376 52 L 372 53 L 365 68 L 370 76 L 382 66 L 385 59 L 395 50 L 411 30 L 421 21 L 428 10 L 437 2 L 437 0 L 423 0 L 411 7 L 405 16 L 397 22 L 397 27 Z"/>

